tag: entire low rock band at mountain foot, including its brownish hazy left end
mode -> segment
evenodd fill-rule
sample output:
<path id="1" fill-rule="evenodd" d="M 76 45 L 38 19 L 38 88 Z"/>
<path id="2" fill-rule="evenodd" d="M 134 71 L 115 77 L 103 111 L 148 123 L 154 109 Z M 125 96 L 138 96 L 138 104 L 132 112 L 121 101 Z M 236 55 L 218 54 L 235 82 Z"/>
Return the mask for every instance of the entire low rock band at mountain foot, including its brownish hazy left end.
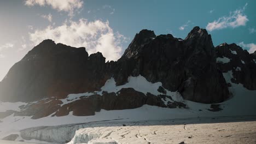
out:
<path id="1" fill-rule="evenodd" d="M 62 102 L 55 98 L 40 100 L 37 103 L 28 104 L 20 112 L 15 112 L 15 116 L 32 116 L 32 119 L 38 119 L 51 116 L 66 116 L 73 111 L 74 116 L 92 116 L 95 112 L 104 110 L 124 110 L 135 109 L 143 105 L 152 105 L 159 107 L 187 108 L 187 105 L 177 102 L 168 101 L 165 105 L 162 99 L 172 99 L 167 95 L 144 94 L 135 91 L 133 88 L 122 88 L 117 93 L 103 92 L 102 95 L 91 95 L 90 97 L 82 96 L 78 100 L 61 106 Z"/>

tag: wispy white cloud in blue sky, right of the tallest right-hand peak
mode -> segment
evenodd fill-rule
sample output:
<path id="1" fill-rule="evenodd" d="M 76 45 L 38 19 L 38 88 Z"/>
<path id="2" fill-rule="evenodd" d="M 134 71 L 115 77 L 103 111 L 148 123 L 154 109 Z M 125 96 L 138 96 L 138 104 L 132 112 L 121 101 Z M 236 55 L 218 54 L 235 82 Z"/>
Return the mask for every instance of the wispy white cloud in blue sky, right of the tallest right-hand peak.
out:
<path id="1" fill-rule="evenodd" d="M 213 31 L 215 29 L 223 29 L 227 27 L 238 27 L 245 26 L 246 22 L 249 21 L 247 19 L 247 15 L 244 14 L 246 9 L 246 5 L 242 9 L 237 9 L 235 11 L 230 12 L 229 16 L 220 17 L 217 21 L 209 22 L 206 26 L 208 31 Z"/>

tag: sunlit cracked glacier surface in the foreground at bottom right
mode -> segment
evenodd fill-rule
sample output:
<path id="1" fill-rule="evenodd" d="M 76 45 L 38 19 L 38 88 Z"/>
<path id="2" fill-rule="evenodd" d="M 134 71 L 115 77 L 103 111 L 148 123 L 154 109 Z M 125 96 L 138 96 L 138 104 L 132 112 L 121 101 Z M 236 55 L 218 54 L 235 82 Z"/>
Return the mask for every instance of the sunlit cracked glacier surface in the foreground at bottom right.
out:
<path id="1" fill-rule="evenodd" d="M 252 121 L 232 117 L 176 119 L 172 121 L 145 121 L 121 124 L 95 124 L 76 131 L 68 144 L 76 143 L 254 143 L 255 117 Z M 79 139 L 88 135 L 97 135 L 94 139 Z M 190 138 L 189 138 L 190 137 Z M 245 139 L 246 137 L 246 139 Z M 75 141 L 74 141 L 75 140 Z"/>

